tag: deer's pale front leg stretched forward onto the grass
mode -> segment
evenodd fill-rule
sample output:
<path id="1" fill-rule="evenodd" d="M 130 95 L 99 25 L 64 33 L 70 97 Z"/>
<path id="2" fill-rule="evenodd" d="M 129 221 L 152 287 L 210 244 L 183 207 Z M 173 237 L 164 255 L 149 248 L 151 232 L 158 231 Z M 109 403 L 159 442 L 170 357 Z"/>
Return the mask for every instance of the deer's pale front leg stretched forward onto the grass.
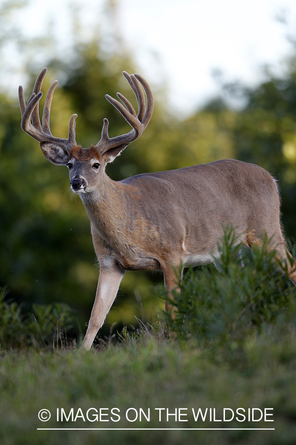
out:
<path id="1" fill-rule="evenodd" d="M 122 270 L 100 267 L 96 299 L 81 348 L 87 351 L 91 348 L 95 336 L 104 323 L 105 317 L 115 300 L 123 276 L 124 271 Z"/>

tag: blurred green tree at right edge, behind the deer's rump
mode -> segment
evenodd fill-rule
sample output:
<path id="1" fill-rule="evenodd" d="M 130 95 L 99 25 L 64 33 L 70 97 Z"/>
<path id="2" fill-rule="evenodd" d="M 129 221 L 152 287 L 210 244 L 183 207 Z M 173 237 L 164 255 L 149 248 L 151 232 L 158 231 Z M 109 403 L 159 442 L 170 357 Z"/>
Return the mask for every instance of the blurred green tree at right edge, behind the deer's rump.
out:
<path id="1" fill-rule="evenodd" d="M 268 170 L 278 180 L 282 221 L 289 237 L 296 238 L 296 58 L 285 77 L 267 72 L 256 88 L 226 85 L 240 94 L 245 106 L 235 114 L 233 144 L 236 157 Z"/>

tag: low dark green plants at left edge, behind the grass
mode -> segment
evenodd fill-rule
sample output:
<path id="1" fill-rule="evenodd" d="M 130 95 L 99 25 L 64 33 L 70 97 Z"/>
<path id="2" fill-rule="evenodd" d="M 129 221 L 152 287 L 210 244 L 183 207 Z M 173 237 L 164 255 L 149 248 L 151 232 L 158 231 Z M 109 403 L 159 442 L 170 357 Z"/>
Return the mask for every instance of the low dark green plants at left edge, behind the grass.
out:
<path id="1" fill-rule="evenodd" d="M 36 305 L 22 313 L 16 302 L 4 300 L 7 288 L 0 292 L 0 350 L 43 348 L 62 342 L 66 330 L 73 327 L 73 311 L 62 303 Z"/>

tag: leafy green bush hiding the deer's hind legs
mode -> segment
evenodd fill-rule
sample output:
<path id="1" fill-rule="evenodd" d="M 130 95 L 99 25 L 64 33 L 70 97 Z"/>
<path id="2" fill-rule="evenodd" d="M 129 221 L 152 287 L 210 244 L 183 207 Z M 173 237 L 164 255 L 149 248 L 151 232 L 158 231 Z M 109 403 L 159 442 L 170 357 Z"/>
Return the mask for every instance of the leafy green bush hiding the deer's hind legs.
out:
<path id="1" fill-rule="evenodd" d="M 218 249 L 216 267 L 190 268 L 183 279 L 179 276 L 180 293 L 175 291 L 173 298 L 161 294 L 177 308 L 174 317 L 166 315 L 177 338 L 236 349 L 266 325 L 296 315 L 296 289 L 272 240 L 249 249 L 237 244 L 233 230 L 226 230 Z"/>

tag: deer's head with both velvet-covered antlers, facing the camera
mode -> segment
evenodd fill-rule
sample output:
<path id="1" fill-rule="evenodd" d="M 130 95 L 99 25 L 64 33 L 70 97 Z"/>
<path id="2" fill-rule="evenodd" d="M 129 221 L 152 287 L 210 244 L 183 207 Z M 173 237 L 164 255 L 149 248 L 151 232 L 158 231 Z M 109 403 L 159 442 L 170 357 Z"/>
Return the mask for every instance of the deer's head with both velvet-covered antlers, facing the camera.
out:
<path id="1" fill-rule="evenodd" d="M 69 124 L 68 139 L 61 139 L 51 134 L 49 126 L 50 106 L 53 92 L 58 81 L 53 82 L 48 90 L 42 115 L 42 125 L 39 119 L 39 101 L 42 96 L 41 86 L 46 75 L 44 68 L 37 77 L 33 94 L 26 105 L 23 88 L 19 87 L 19 102 L 22 114 L 21 128 L 24 132 L 40 142 L 42 153 L 48 161 L 55 165 L 67 165 L 70 174 L 71 188 L 76 193 L 89 193 L 99 182 L 105 173 L 106 164 L 112 162 L 122 150 L 131 142 L 138 139 L 147 127 L 153 112 L 153 96 L 148 83 L 139 74 L 129 75 L 123 71 L 123 76 L 133 89 L 139 111 L 134 110 L 131 103 L 122 94 L 117 93 L 118 100 L 106 94 L 107 100 L 119 111 L 124 119 L 132 127 L 127 134 L 109 137 L 108 119 L 104 119 L 102 137 L 96 145 L 90 148 L 82 148 L 75 140 L 75 119 L 73 114 Z M 145 104 L 146 93 L 147 104 Z"/>

